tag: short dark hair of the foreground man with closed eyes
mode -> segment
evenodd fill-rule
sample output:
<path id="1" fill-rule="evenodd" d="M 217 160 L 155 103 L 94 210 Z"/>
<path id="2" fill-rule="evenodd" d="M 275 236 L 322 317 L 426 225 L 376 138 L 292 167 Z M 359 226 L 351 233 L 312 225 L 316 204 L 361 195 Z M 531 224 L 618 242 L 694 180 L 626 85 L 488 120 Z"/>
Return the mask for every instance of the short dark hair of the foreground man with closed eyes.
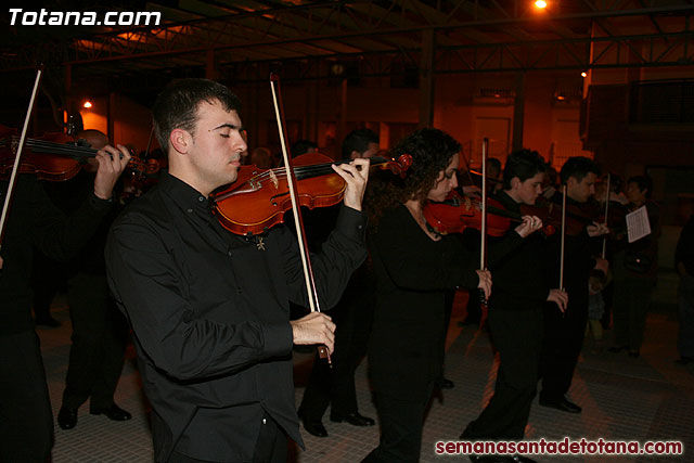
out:
<path id="1" fill-rule="evenodd" d="M 154 132 L 162 150 L 168 151 L 174 129 L 191 134 L 197 124 L 197 110 L 202 103 L 220 102 L 224 111 L 241 110 L 239 98 L 226 86 L 208 79 L 180 79 L 169 83 L 152 107 Z"/>

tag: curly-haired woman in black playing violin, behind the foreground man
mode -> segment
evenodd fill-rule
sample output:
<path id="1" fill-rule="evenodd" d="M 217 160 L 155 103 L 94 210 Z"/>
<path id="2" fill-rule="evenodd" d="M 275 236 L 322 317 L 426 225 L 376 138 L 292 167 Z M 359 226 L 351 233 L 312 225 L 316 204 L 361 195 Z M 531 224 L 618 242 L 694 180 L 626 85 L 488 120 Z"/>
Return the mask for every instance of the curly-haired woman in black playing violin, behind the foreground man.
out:
<path id="1" fill-rule="evenodd" d="M 371 258 L 376 306 L 369 366 L 381 417 L 381 440 L 364 461 L 415 462 L 424 413 L 441 374 L 446 291 L 460 285 L 491 291 L 489 272 L 459 239 L 427 226 L 427 201 L 444 201 L 458 185 L 460 144 L 437 129 L 421 129 L 394 150 L 412 156 L 403 179 L 369 189 Z"/>

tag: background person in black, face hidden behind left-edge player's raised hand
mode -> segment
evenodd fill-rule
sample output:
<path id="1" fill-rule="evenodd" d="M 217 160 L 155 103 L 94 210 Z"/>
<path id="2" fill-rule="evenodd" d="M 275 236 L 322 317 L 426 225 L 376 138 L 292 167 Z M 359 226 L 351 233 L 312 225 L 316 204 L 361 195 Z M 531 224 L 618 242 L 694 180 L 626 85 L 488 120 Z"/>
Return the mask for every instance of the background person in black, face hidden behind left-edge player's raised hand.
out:
<path id="1" fill-rule="evenodd" d="M 90 147 L 99 150 L 108 138 L 99 130 L 78 133 Z M 47 184 L 60 188 L 57 204 L 66 213 L 75 210 L 89 192 L 94 166 L 91 162 L 67 182 Z M 119 188 L 116 187 L 119 196 Z M 65 375 L 63 402 L 57 425 L 72 429 L 77 425 L 77 411 L 89 399 L 89 413 L 113 421 L 127 421 L 131 414 L 114 402 L 114 394 L 123 371 L 128 326 L 116 309 L 106 283 L 104 246 L 108 229 L 121 208 L 111 209 L 97 232 L 67 265 L 67 304 L 73 325 L 69 361 Z"/>

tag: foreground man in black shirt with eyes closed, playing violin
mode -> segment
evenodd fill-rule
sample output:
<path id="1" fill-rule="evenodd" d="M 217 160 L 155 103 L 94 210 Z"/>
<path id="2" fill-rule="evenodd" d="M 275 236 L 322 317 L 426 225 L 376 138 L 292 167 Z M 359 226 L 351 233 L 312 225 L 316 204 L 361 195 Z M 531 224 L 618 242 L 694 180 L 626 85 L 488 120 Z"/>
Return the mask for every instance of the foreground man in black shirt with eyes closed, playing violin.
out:
<path id="1" fill-rule="evenodd" d="M 210 211 L 209 194 L 236 180 L 247 150 L 239 108 L 227 87 L 206 79 L 159 94 L 153 115 L 169 172 L 116 220 L 106 246 L 153 407 L 156 461 L 285 461 L 287 436 L 301 443 L 292 346 L 333 350 L 325 314 L 290 322 L 290 300 L 307 304 L 291 232 L 231 234 Z M 326 308 L 365 258 L 368 166 L 333 166 L 346 181 L 345 205 L 312 260 Z"/>

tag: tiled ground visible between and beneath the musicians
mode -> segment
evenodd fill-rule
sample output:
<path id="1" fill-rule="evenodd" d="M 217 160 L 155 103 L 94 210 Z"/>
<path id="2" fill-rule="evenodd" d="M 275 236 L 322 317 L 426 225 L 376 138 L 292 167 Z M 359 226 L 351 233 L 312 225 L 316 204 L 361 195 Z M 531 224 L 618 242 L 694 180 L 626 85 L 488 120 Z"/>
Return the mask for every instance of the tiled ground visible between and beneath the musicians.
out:
<path id="1" fill-rule="evenodd" d="M 422 462 L 453 460 L 434 453 L 437 440 L 455 440 L 464 426 L 477 416 L 493 390 L 494 361 L 488 337 L 474 327 L 460 327 L 460 298 L 457 300 L 449 330 L 447 376 L 455 387 L 433 400 L 426 419 L 422 446 Z M 63 322 L 59 329 L 40 329 L 53 410 L 60 398 L 69 350 L 69 317 L 64 304 L 54 305 L 53 314 Z M 607 332 L 609 336 L 609 332 Z M 590 353 L 587 342 L 574 378 L 570 397 L 583 407 L 579 415 L 534 404 L 526 429 L 528 439 L 561 440 L 603 438 L 605 440 L 681 440 L 685 454 L 679 456 L 549 456 L 536 455 L 540 462 L 556 461 L 654 461 L 694 462 L 694 364 L 681 366 L 677 358 L 676 313 L 671 308 L 656 308 L 648 317 L 646 343 L 638 359 L 626 353 Z M 310 371 L 312 357 L 295 357 L 296 399 L 300 400 Z M 367 364 L 357 372 L 360 411 L 376 416 L 367 382 Z M 133 420 L 111 422 L 92 416 L 88 406 L 80 409 L 77 427 L 63 430 L 55 426 L 53 461 L 63 462 L 150 462 L 152 445 L 147 427 L 146 401 L 134 366 L 133 350 L 128 350 L 126 366 L 118 384 L 116 402 L 130 411 Z M 327 415 L 327 413 L 326 413 Z M 299 462 L 358 462 L 377 443 L 378 428 L 358 428 L 348 424 L 324 425 L 329 438 L 316 438 L 304 433 L 306 451 L 295 448 L 293 459 Z M 457 461 L 461 456 L 454 458 Z M 463 461 L 466 459 L 463 458 Z"/>

